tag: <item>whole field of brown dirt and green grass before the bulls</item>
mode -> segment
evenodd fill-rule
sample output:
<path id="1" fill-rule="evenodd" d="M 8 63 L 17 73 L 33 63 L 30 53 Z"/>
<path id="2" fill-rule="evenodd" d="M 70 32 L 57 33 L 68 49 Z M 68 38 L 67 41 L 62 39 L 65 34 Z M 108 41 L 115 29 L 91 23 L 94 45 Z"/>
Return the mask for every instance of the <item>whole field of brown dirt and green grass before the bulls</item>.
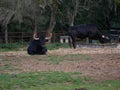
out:
<path id="1" fill-rule="evenodd" d="M 119 48 L 0 52 L 0 90 L 120 90 Z"/>

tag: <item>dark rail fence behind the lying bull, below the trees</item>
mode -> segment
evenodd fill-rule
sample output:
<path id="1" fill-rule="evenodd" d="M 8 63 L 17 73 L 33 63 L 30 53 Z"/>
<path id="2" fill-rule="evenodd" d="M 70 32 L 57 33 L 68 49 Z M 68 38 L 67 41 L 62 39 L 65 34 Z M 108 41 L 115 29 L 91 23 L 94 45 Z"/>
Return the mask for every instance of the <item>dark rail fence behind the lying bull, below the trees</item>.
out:
<path id="1" fill-rule="evenodd" d="M 45 32 L 39 32 L 40 35 L 45 34 Z M 52 42 L 59 41 L 60 36 L 65 35 L 64 32 L 53 32 Z M 32 32 L 8 32 L 8 42 L 28 42 L 33 39 Z M 0 33 L 0 42 L 5 40 L 5 34 Z"/>

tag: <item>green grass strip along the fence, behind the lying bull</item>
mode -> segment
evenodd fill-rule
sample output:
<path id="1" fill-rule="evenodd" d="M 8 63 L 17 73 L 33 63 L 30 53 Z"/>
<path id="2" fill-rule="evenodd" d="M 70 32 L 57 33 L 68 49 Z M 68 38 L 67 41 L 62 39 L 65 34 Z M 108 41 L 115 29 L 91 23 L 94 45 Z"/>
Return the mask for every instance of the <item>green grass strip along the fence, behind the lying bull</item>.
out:
<path id="1" fill-rule="evenodd" d="M 0 44 L 0 52 L 3 51 L 18 51 L 18 50 L 27 50 L 27 47 L 29 46 L 29 42 L 17 42 L 17 43 L 8 43 L 8 44 Z M 58 48 L 68 48 L 69 45 L 66 43 L 51 43 L 46 44 L 46 47 L 48 50 L 55 50 Z"/>

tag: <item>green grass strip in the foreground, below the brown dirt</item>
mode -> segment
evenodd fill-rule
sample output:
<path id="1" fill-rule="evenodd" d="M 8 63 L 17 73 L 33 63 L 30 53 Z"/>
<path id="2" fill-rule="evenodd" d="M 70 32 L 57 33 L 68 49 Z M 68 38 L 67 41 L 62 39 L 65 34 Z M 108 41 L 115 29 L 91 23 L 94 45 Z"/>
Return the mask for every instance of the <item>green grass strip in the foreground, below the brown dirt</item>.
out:
<path id="1" fill-rule="evenodd" d="M 120 80 L 96 82 L 71 72 L 0 74 L 0 90 L 120 90 L 119 83 Z"/>

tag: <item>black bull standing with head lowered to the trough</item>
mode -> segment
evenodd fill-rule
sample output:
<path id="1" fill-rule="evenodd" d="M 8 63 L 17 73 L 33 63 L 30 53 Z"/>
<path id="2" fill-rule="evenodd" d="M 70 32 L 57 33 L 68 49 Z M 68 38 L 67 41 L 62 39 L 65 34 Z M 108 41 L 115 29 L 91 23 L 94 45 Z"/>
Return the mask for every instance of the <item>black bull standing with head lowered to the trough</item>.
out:
<path id="1" fill-rule="evenodd" d="M 101 44 L 108 42 L 106 38 L 97 28 L 95 24 L 83 24 L 69 27 L 69 36 L 71 37 L 70 45 L 76 48 L 76 38 L 89 40 L 99 40 Z"/>

